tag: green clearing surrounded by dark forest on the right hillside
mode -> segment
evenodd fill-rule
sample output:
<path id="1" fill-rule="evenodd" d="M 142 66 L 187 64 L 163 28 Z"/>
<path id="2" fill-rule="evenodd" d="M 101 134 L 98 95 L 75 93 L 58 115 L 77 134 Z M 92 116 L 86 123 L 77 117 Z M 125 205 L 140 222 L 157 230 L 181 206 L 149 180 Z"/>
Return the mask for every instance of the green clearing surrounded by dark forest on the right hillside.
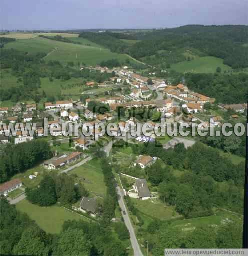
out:
<path id="1" fill-rule="evenodd" d="M 217 67 L 220 67 L 222 72 L 231 70 L 231 67 L 223 64 L 223 59 L 211 56 L 183 61 L 171 66 L 172 69 L 180 73 L 215 73 Z"/>

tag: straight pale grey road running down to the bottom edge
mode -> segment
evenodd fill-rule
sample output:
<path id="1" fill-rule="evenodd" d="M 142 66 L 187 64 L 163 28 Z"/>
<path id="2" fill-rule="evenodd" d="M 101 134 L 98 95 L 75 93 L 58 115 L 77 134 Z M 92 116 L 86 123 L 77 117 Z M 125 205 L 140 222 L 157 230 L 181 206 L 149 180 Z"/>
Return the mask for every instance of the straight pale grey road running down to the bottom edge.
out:
<path id="1" fill-rule="evenodd" d="M 117 186 L 117 194 L 118 194 L 118 203 L 121 207 L 122 217 L 124 219 L 124 222 L 125 222 L 125 225 L 126 225 L 128 231 L 130 233 L 130 240 L 131 240 L 131 244 L 132 244 L 132 247 L 133 247 L 134 256 L 143 256 L 143 254 L 141 252 L 141 249 L 139 247 L 139 243 L 137 241 L 137 238 L 136 238 L 131 220 L 129 218 L 128 211 L 127 211 L 125 203 L 124 203 L 123 191 L 119 186 Z M 125 211 L 126 214 L 123 214 L 123 211 Z"/>

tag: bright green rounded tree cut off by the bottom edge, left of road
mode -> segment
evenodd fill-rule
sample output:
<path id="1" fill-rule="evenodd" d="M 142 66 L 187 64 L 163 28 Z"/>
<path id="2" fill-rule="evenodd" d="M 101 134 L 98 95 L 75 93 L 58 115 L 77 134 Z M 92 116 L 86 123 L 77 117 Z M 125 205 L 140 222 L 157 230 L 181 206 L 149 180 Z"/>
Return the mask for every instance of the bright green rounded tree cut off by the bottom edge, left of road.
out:
<path id="1" fill-rule="evenodd" d="M 87 256 L 90 255 L 91 242 L 82 229 L 68 228 L 60 234 L 55 255 Z"/>

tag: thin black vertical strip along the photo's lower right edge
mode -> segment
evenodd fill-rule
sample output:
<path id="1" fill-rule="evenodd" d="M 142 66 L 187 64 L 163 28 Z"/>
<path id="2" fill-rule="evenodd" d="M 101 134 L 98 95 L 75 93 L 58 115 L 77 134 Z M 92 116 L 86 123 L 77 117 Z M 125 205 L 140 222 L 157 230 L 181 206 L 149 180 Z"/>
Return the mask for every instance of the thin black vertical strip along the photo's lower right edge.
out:
<path id="1" fill-rule="evenodd" d="M 248 102 L 246 105 L 246 129 L 248 125 Z M 244 176 L 244 204 L 243 204 L 243 248 L 248 248 L 248 136 L 246 130 L 246 157 Z"/>

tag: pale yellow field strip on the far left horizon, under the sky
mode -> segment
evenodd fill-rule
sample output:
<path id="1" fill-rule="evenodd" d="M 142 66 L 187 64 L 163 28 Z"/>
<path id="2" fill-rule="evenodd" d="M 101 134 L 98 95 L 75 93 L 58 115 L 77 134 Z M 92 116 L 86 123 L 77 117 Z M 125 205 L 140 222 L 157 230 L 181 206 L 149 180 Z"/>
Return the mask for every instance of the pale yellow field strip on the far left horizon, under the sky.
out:
<path id="1" fill-rule="evenodd" d="M 63 37 L 78 37 L 78 34 L 69 34 L 69 33 L 8 33 L 8 34 L 1 34 L 0 37 L 8 37 L 8 38 L 15 38 L 15 39 L 31 39 L 31 38 L 38 37 L 39 35 L 45 35 L 45 36 L 61 35 Z"/>

